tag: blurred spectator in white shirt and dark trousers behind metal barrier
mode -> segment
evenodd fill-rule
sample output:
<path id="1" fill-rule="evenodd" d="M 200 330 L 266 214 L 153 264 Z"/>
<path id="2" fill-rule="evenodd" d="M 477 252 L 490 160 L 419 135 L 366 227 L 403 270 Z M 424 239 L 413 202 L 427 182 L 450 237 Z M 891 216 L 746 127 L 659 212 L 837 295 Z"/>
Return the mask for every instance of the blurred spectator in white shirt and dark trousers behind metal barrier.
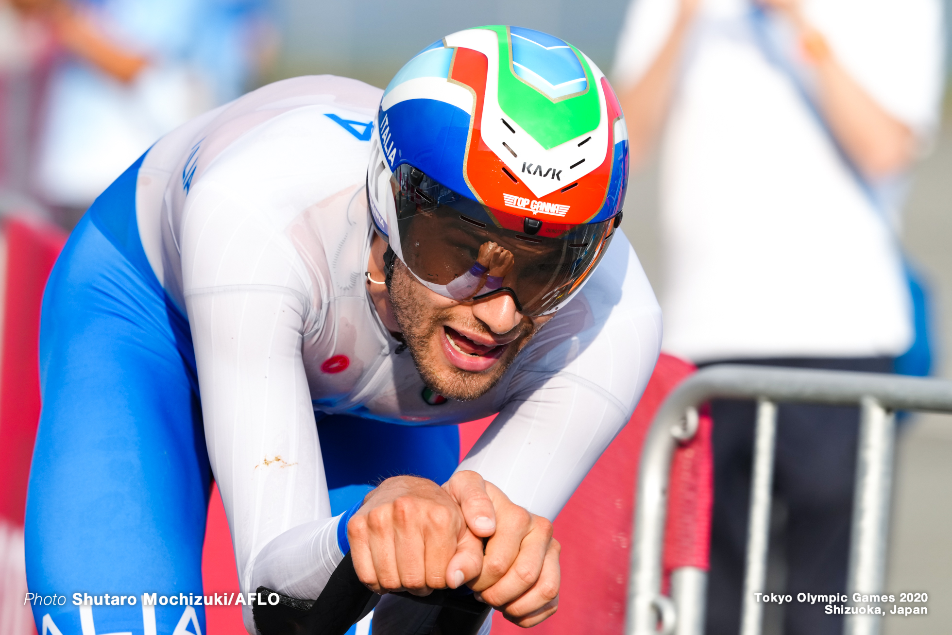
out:
<path id="1" fill-rule="evenodd" d="M 661 137 L 664 347 L 890 372 L 914 336 L 898 210 L 939 125 L 940 0 L 635 0 L 615 63 L 632 165 Z M 754 406 L 713 405 L 707 631 L 740 627 Z M 859 414 L 784 406 L 785 593 L 845 590 Z M 780 589 L 764 589 L 780 590 Z M 788 634 L 839 633 L 820 605 Z"/>

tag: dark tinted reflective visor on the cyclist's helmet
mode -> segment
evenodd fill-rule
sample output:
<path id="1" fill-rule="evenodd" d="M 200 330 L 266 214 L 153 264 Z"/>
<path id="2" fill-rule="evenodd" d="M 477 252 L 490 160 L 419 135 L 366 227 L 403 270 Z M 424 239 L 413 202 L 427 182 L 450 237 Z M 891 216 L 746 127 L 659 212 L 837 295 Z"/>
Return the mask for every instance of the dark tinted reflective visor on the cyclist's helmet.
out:
<path id="1" fill-rule="evenodd" d="M 390 184 L 404 264 L 454 300 L 508 293 L 522 313 L 552 312 L 582 286 L 613 233 L 613 219 L 565 225 L 487 208 L 407 164 Z"/>

